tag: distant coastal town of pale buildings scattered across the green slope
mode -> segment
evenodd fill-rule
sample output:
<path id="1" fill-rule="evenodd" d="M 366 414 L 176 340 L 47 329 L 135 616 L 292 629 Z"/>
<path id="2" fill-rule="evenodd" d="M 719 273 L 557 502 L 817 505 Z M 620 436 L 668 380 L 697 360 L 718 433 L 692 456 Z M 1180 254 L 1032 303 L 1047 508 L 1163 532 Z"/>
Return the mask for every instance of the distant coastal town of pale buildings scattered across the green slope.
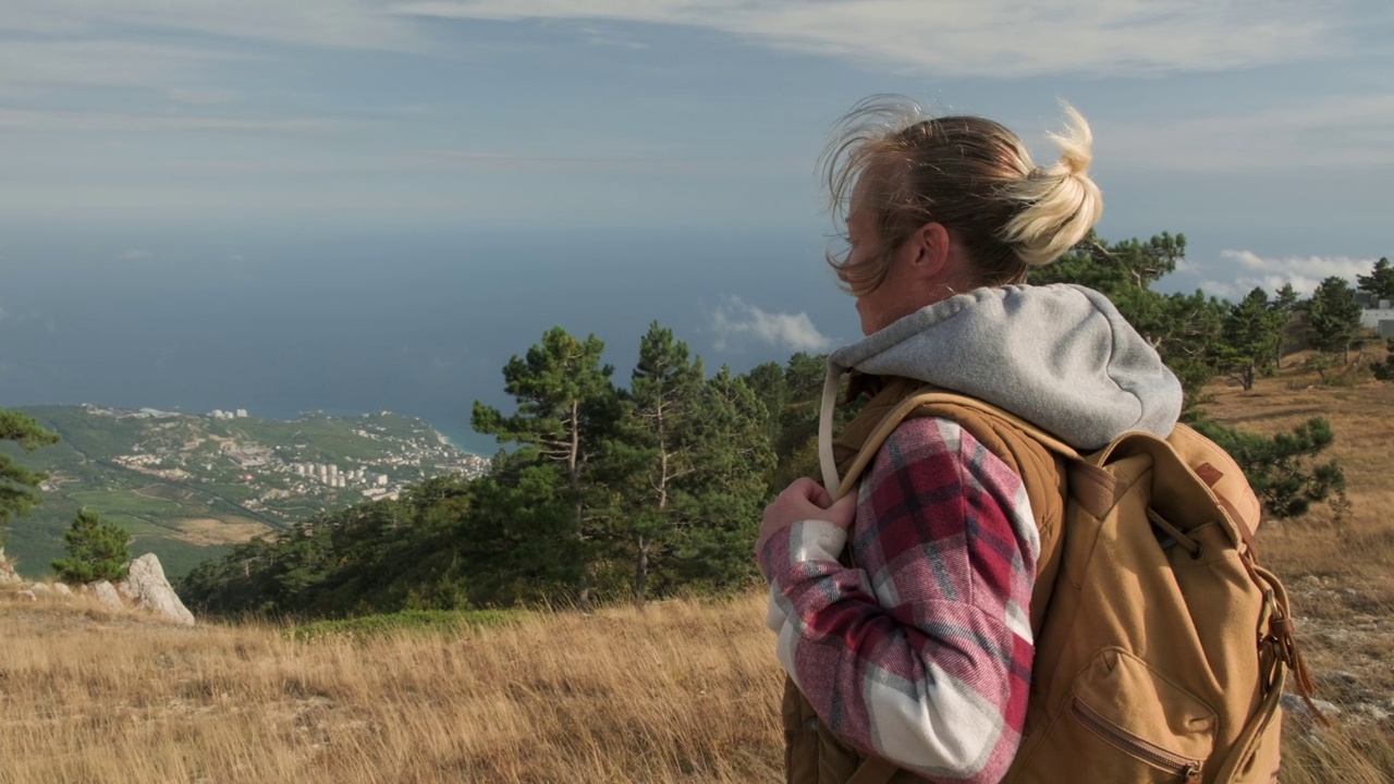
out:
<path id="1" fill-rule="evenodd" d="M 269 525 L 396 499 L 427 478 L 475 478 L 489 469 L 489 459 L 457 449 L 427 423 L 390 412 L 350 417 L 316 412 L 273 421 L 245 409 L 206 414 L 74 409 L 88 435 L 72 442 L 82 459 L 71 469 L 53 466 L 45 490 L 91 485 L 82 474 L 106 465 L 137 476 L 112 477 L 100 490 L 125 485 L 142 498 L 183 501 L 183 506 L 206 497 L 210 505 L 222 501 Z M 141 488 L 139 477 L 164 487 Z"/>

